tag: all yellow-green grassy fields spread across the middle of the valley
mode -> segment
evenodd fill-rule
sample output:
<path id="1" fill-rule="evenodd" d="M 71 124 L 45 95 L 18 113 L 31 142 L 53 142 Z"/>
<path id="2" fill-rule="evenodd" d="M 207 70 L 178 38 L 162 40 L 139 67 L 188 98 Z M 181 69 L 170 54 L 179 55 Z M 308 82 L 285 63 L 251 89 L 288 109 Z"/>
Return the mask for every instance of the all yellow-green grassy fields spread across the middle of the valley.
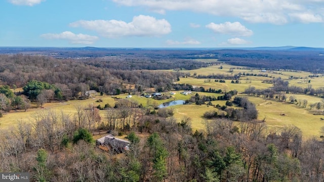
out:
<path id="1" fill-rule="evenodd" d="M 199 61 L 207 62 L 207 63 L 217 63 L 217 59 L 201 59 Z M 219 69 L 222 66 L 223 69 Z M 233 72 L 230 73 L 229 69 L 233 68 Z M 171 70 L 168 70 L 171 71 Z M 201 75 L 209 75 L 209 74 L 241 74 L 249 73 L 249 74 L 258 74 L 261 73 L 261 70 L 258 69 L 250 69 L 247 67 L 237 67 L 231 65 L 215 65 L 210 66 L 207 68 L 200 68 L 196 70 L 182 70 L 183 72 L 189 72 L 191 75 L 193 74 L 201 74 Z M 265 74 L 265 73 L 262 73 Z M 180 81 L 177 83 L 188 83 L 194 86 L 200 87 L 203 86 L 206 89 L 209 87 L 215 89 L 222 89 L 223 91 L 230 91 L 233 89 L 238 90 L 238 92 L 244 92 L 246 88 L 249 86 L 254 86 L 259 89 L 264 89 L 267 87 L 272 86 L 272 84 L 262 83 L 263 80 L 269 80 L 273 77 L 281 77 L 282 79 L 286 79 L 289 81 L 290 85 L 308 87 L 311 85 L 313 88 L 323 87 L 324 86 L 324 79 L 323 76 L 309 78 L 308 75 L 311 73 L 308 72 L 289 72 L 289 71 L 267 71 L 271 77 L 261 77 L 261 76 L 241 76 L 240 83 L 231 83 L 231 80 L 226 80 L 226 83 L 215 82 L 215 79 L 211 79 L 209 82 L 208 79 L 197 79 L 193 77 L 188 78 L 180 78 Z M 298 77 L 298 79 L 290 79 L 291 77 Z M 310 81 L 309 81 L 310 80 Z M 21 88 L 17 88 L 17 90 L 21 90 Z M 152 106 L 157 106 L 164 102 L 174 101 L 174 100 L 187 100 L 190 97 L 194 96 L 196 92 L 193 92 L 192 95 L 184 96 L 180 94 L 181 91 L 175 91 L 175 95 L 173 95 L 170 99 L 167 100 L 153 100 L 148 99 L 141 96 L 133 96 L 129 98 L 129 100 L 136 101 L 138 104 L 142 104 L 146 106 L 147 104 Z M 218 97 L 223 94 L 214 94 L 214 93 L 199 93 L 200 96 L 214 96 Z M 170 92 L 162 93 L 164 95 L 170 95 Z M 118 95 L 118 98 L 126 98 L 127 95 Z M 240 95 L 245 96 L 245 95 Z M 287 98 L 291 95 L 287 94 Z M 313 104 L 316 102 L 321 102 L 322 99 L 313 96 L 307 95 L 294 95 L 297 100 L 304 100 L 306 99 L 309 104 Z M 102 102 L 96 102 L 97 100 L 101 99 Z M 266 124 L 270 127 L 282 127 L 285 125 L 293 124 L 299 127 L 303 131 L 303 135 L 308 138 L 312 135 L 319 135 L 320 127 L 324 126 L 324 121 L 320 118 L 324 116 L 321 115 L 313 115 L 314 111 L 309 109 L 307 105 L 306 108 L 300 107 L 295 104 L 290 104 L 289 102 L 278 102 L 274 100 L 266 100 L 264 98 L 257 98 L 257 97 L 249 97 L 249 100 L 256 104 L 256 107 L 259 112 L 259 119 L 265 118 Z M 44 104 L 44 108 L 39 108 L 33 105 L 32 108 L 28 109 L 27 112 L 23 111 L 12 111 L 4 115 L 4 117 L 0 118 L 0 128 L 10 128 L 15 126 L 18 121 L 30 121 L 32 120 L 32 115 L 39 111 L 48 111 L 53 110 L 55 112 L 64 112 L 66 114 L 70 114 L 71 116 L 76 113 L 76 106 L 87 106 L 87 105 L 101 105 L 104 107 L 105 104 L 109 104 L 110 106 L 114 106 L 117 100 L 111 98 L 111 96 L 93 96 L 87 100 L 73 100 L 68 102 L 53 102 L 53 103 L 46 103 Z M 220 104 L 225 105 L 225 101 L 213 101 L 214 105 Z M 191 105 L 178 105 L 172 106 L 174 107 L 174 117 L 177 118 L 178 121 L 181 120 L 182 117 L 187 116 L 192 119 L 192 128 L 195 129 L 205 129 L 203 124 L 204 118 L 201 116 L 209 110 L 216 110 L 213 107 L 207 107 L 206 105 L 197 106 L 195 104 Z M 102 116 L 104 116 L 105 111 L 100 111 Z"/>

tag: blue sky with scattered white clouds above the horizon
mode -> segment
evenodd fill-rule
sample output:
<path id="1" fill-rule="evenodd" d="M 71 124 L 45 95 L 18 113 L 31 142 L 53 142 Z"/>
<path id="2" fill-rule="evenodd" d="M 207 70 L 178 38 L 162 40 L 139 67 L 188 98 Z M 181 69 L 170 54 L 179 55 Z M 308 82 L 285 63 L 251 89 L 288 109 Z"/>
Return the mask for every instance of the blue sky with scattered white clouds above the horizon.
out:
<path id="1" fill-rule="evenodd" d="M 324 0 L 2 0 L 0 47 L 324 48 Z"/>

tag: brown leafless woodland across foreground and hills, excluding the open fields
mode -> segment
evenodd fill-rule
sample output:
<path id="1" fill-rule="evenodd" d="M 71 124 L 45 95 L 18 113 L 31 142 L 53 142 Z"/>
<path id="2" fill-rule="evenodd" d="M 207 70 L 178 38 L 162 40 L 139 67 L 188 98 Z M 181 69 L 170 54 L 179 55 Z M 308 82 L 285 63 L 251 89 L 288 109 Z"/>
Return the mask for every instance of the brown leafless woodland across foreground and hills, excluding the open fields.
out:
<path id="1" fill-rule="evenodd" d="M 87 49 L 91 52 L 91 48 Z M 116 50 L 110 56 L 105 53 L 103 57 L 64 59 L 0 55 L 2 114 L 26 111 L 35 103 L 42 107 L 49 102 L 87 100 L 89 90 L 115 98 L 120 94 L 199 90 L 220 94 L 218 97 L 195 94 L 186 101 L 212 108 L 201 116 L 204 129 L 194 130 L 191 123 L 195 121 L 190 117 L 174 117 L 173 108 L 157 109 L 153 102 L 142 105 L 121 98 L 116 99 L 114 105 L 102 103 L 106 104 L 104 107 L 97 103 L 79 105 L 74 108 L 74 114 L 39 110 L 28 121 L 19 120 L 17 126 L 9 128 L 2 127 L 0 118 L 1 172 L 30 172 L 31 181 L 324 181 L 322 139 L 303 139 L 301 130 L 294 125 L 266 126 L 264 120 L 257 119 L 255 105 L 246 97 L 236 96 L 237 90 L 175 83 L 180 78 L 196 76 L 185 70 L 211 65 L 192 59 L 196 54 L 213 54 L 221 62 L 233 65 L 311 72 L 324 70 L 319 66 L 322 65 L 320 58 L 310 60 L 315 66 L 312 62 L 300 61 L 294 62 L 296 67 L 287 68 L 291 62 L 274 60 L 280 56 L 287 60 L 302 59 L 303 53 L 294 53 L 296 57 L 288 58 L 285 52 L 273 58 L 272 53 L 261 57 L 261 53 L 255 56 L 255 53 L 241 53 L 249 51 L 235 53 L 231 50 L 230 53 L 235 54 L 226 53 L 229 56 L 222 59 L 225 50 L 190 53 L 133 50 L 127 56 L 116 56 L 117 51 L 127 52 Z M 154 52 L 154 56 L 144 59 L 133 52 L 141 55 Z M 156 52 L 163 58 L 158 59 Z M 190 59 L 183 59 L 188 55 Z M 258 60 L 255 64 L 254 59 Z M 173 71 L 164 71 L 166 69 Z M 239 79 L 230 73 L 200 75 L 199 78 Z M 305 104 L 304 101 L 288 98 L 286 94 L 324 95 L 320 88 L 291 86 L 280 78 L 269 82 L 270 88 L 251 86 L 245 94 L 287 99 L 300 105 Z M 213 100 L 226 100 L 226 105 L 214 106 L 210 104 Z M 324 105 L 320 105 L 319 110 L 321 108 L 324 110 Z M 112 148 L 107 152 L 96 147 L 94 136 L 107 132 L 126 136 L 131 142 L 130 150 L 120 153 Z"/>

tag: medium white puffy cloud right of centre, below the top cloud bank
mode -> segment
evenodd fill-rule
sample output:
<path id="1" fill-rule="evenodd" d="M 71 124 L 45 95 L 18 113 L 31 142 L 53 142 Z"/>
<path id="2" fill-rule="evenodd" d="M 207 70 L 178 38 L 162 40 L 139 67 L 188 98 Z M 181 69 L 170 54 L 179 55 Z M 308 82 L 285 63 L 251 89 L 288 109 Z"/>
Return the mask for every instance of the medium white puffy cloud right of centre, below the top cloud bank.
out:
<path id="1" fill-rule="evenodd" d="M 237 36 L 251 36 L 253 31 L 249 30 L 239 22 L 225 22 L 221 24 L 210 23 L 206 25 L 207 28 L 213 30 L 215 33 L 231 34 Z"/>

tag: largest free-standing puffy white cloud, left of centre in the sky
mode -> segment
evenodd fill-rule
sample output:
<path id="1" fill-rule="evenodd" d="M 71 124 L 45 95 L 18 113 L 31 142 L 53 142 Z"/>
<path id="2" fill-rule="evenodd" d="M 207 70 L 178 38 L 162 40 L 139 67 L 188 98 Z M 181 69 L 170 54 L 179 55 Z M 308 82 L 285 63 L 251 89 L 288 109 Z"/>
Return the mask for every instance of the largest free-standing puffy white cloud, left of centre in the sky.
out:
<path id="1" fill-rule="evenodd" d="M 139 15 L 130 23 L 118 20 L 79 20 L 70 23 L 72 27 L 94 30 L 100 35 L 113 38 L 120 36 L 159 36 L 171 32 L 171 25 L 165 19 Z"/>

